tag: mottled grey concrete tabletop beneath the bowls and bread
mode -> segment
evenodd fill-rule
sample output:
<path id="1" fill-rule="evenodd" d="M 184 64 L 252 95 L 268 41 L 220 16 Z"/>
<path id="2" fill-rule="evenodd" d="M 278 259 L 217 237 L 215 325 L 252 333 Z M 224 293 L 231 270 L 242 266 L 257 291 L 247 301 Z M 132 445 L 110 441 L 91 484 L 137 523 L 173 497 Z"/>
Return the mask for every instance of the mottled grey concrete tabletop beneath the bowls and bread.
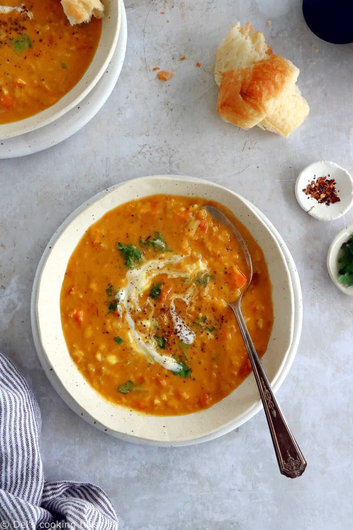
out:
<path id="1" fill-rule="evenodd" d="M 351 528 L 353 299 L 332 284 L 325 260 L 353 212 L 326 224 L 310 218 L 296 203 L 294 182 L 320 159 L 353 172 L 353 46 L 316 38 L 300 0 L 141 0 L 128 1 L 126 12 L 125 63 L 103 109 L 66 142 L 0 161 L 0 349 L 39 400 L 46 479 L 99 484 L 113 498 L 123 530 Z M 301 69 L 311 112 L 287 139 L 238 130 L 216 114 L 214 52 L 238 20 L 264 31 L 275 52 Z M 155 66 L 176 74 L 161 83 Z M 279 475 L 263 413 L 200 446 L 135 446 L 77 417 L 41 369 L 30 296 L 49 238 L 99 190 L 158 173 L 200 176 L 239 192 L 268 216 L 293 254 L 304 324 L 277 396 L 309 462 L 301 479 Z"/>

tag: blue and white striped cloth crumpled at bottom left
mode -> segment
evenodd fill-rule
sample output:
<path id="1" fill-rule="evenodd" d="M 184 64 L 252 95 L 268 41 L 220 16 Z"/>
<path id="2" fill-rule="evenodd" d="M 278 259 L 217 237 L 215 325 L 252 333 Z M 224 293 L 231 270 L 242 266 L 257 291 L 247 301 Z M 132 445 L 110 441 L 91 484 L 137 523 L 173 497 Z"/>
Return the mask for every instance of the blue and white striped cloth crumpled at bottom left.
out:
<path id="1" fill-rule="evenodd" d="M 0 351 L 0 529 L 117 530 L 101 488 L 44 482 L 38 403 L 20 370 Z"/>

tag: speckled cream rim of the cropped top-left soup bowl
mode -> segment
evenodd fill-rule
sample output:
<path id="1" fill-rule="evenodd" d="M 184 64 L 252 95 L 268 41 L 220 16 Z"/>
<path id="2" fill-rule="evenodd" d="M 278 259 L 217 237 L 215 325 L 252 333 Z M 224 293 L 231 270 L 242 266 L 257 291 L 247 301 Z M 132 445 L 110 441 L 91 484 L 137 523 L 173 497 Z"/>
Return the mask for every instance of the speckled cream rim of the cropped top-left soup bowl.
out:
<path id="1" fill-rule="evenodd" d="M 48 109 L 34 114 L 25 120 L 0 125 L 0 140 L 29 133 L 39 127 L 48 125 L 73 109 L 93 89 L 104 74 L 119 37 L 121 23 L 121 0 L 103 0 L 104 17 L 102 35 L 92 60 L 82 79 L 63 98 Z"/>

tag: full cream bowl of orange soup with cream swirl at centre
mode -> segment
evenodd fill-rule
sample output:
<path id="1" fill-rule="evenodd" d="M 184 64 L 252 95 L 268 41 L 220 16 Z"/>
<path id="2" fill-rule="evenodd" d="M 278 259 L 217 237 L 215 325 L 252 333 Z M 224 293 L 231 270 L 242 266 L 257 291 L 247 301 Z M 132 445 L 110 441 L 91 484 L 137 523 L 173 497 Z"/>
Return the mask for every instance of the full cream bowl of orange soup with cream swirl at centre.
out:
<path id="1" fill-rule="evenodd" d="M 96 427 L 158 445 L 246 421 L 259 395 L 228 305 L 248 271 L 217 206 L 247 241 L 242 311 L 271 383 L 295 355 L 294 294 L 270 229 L 236 193 L 169 176 L 128 181 L 80 208 L 39 266 L 33 330 L 60 395 Z"/>

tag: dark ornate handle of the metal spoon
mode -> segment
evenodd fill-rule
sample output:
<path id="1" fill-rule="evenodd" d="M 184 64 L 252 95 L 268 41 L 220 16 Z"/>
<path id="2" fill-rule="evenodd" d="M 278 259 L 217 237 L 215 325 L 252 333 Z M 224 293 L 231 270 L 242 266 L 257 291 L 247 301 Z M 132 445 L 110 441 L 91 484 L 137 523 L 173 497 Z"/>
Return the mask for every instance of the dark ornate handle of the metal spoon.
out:
<path id="1" fill-rule="evenodd" d="M 291 479 L 295 479 L 304 473 L 307 462 L 293 436 L 288 423 L 279 408 L 271 385 L 266 377 L 263 367 L 261 366 L 259 356 L 252 343 L 249 331 L 241 313 L 241 302 L 230 304 L 234 314 L 237 317 L 240 332 L 245 342 L 248 356 L 254 371 L 257 386 L 261 400 L 264 405 L 268 427 L 277 456 L 279 471 Z"/>

